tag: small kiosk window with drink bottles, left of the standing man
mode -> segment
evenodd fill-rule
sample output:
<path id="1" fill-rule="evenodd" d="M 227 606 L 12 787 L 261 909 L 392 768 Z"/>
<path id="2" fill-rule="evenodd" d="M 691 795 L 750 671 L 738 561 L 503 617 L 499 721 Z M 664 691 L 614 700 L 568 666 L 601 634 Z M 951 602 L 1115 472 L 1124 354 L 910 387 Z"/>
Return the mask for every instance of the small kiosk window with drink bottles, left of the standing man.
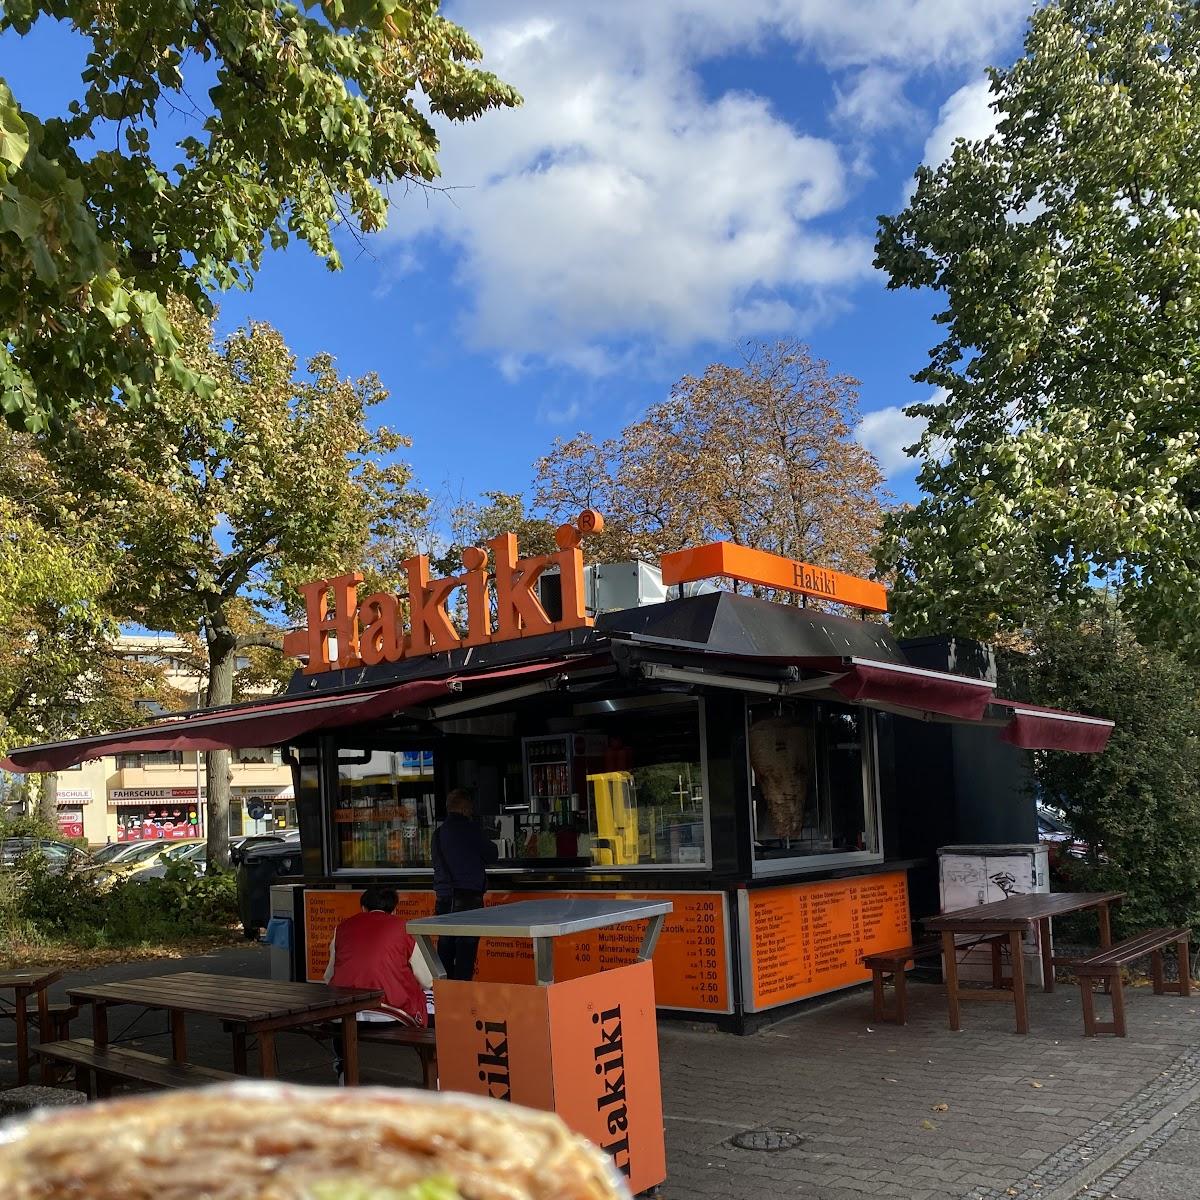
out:
<path id="1" fill-rule="evenodd" d="M 340 748 L 336 786 L 335 869 L 431 865 L 434 799 L 431 752 Z"/>

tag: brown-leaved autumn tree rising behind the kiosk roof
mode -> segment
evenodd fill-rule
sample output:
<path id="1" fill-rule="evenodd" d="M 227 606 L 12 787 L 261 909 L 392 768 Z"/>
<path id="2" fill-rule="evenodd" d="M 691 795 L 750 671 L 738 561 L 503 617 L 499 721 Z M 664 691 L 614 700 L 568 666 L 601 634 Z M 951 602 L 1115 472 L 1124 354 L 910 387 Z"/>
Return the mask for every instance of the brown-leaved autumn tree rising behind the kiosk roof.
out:
<path id="1" fill-rule="evenodd" d="M 886 493 L 853 438 L 857 388 L 802 343 L 749 347 L 685 376 L 618 438 L 557 442 L 534 468 L 535 511 L 604 512 L 589 554 L 607 562 L 726 540 L 870 574 Z"/>

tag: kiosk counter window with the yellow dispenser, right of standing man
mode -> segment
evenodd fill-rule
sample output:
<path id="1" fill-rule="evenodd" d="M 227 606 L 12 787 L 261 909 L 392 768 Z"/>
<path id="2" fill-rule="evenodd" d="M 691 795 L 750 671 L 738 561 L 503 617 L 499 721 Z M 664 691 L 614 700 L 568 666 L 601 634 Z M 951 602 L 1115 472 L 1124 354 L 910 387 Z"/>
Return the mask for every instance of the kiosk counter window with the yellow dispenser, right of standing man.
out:
<path id="1" fill-rule="evenodd" d="M 564 866 L 703 864 L 700 706 L 610 712 L 526 738 L 524 796 L 505 806 L 508 857 Z"/>

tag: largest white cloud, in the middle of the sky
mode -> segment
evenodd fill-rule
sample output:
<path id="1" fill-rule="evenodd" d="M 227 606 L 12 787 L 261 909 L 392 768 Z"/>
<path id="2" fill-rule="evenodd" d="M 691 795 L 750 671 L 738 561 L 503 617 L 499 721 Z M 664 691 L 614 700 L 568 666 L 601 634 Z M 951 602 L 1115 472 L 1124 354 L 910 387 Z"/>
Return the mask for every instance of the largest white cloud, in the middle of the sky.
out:
<path id="1" fill-rule="evenodd" d="M 842 150 L 697 66 L 768 38 L 858 73 L 847 120 L 878 122 L 913 62 L 976 62 L 1025 0 L 461 0 L 486 65 L 526 96 L 443 131 L 448 196 L 395 205 L 397 250 L 450 250 L 466 338 L 506 370 L 592 373 L 613 356 L 803 332 L 870 274 Z M 853 166 L 853 164 L 852 164 Z"/>

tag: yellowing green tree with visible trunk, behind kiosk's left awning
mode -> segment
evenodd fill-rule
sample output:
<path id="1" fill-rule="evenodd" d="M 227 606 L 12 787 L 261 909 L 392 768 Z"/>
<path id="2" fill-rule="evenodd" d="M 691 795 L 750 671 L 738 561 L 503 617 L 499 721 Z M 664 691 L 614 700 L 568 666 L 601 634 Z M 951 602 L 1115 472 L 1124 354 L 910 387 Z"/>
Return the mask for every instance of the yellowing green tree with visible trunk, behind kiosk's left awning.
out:
<path id="1" fill-rule="evenodd" d="M 180 304 L 172 317 L 190 367 L 217 382 L 214 397 L 164 386 L 152 406 L 80 413 L 46 452 L 72 481 L 74 511 L 120 547 L 113 610 L 198 631 L 205 703 L 228 704 L 238 659 L 278 650 L 270 623 L 294 608 L 296 586 L 356 566 L 384 532 L 403 554 L 396 530 L 418 523 L 425 497 L 396 457 L 407 440 L 368 427 L 386 396 L 377 377 L 343 378 L 328 354 L 299 372 L 265 324 L 215 344 L 199 313 Z M 220 866 L 228 751 L 209 751 L 205 768 L 209 863 Z"/>

